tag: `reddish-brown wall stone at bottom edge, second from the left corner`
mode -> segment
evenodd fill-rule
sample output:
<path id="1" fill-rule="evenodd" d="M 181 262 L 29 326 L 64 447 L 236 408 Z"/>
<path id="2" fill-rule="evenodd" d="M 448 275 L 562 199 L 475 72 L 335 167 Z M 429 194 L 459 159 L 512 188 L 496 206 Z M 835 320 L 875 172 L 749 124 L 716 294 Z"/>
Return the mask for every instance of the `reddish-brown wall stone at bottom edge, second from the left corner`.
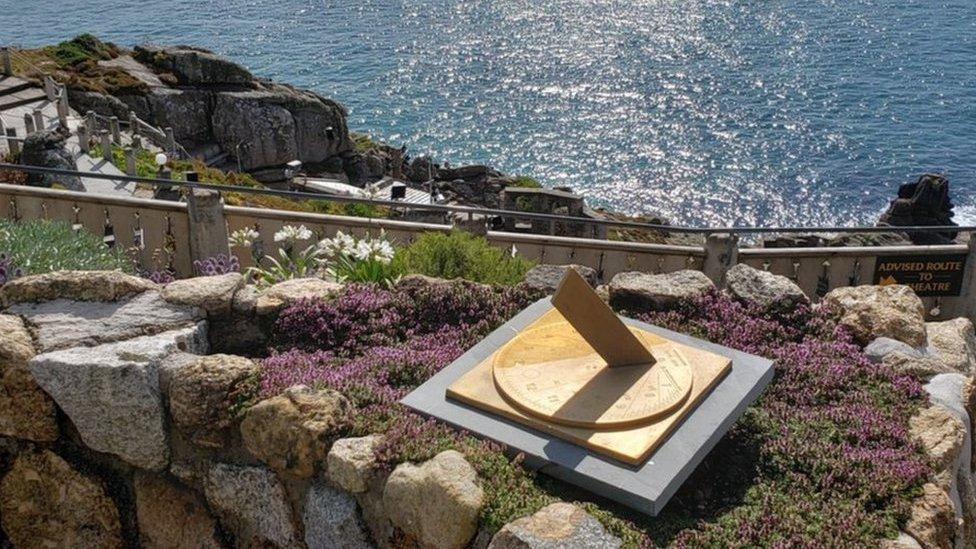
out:
<path id="1" fill-rule="evenodd" d="M 223 547 L 217 523 L 196 494 L 158 475 L 136 474 L 132 484 L 142 547 Z"/>

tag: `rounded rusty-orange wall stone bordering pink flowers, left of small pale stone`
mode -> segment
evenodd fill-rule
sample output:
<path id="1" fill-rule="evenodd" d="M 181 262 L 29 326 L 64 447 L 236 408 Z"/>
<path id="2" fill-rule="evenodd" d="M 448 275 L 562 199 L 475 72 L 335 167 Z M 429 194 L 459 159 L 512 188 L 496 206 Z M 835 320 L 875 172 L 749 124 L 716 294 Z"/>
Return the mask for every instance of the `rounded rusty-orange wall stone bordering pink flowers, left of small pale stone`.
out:
<path id="1" fill-rule="evenodd" d="M 298 385 L 255 404 L 241 421 L 241 438 L 269 467 L 308 478 L 325 465 L 329 436 L 342 424 L 349 401 L 330 390 Z"/>

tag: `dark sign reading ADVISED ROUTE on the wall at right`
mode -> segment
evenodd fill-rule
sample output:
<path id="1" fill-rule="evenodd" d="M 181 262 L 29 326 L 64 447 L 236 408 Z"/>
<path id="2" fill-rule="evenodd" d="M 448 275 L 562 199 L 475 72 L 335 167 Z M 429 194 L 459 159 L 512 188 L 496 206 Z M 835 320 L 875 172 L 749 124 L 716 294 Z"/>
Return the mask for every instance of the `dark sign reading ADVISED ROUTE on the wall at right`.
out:
<path id="1" fill-rule="evenodd" d="M 874 283 L 904 284 L 920 296 L 958 296 L 965 272 L 966 254 L 892 255 L 875 261 Z"/>

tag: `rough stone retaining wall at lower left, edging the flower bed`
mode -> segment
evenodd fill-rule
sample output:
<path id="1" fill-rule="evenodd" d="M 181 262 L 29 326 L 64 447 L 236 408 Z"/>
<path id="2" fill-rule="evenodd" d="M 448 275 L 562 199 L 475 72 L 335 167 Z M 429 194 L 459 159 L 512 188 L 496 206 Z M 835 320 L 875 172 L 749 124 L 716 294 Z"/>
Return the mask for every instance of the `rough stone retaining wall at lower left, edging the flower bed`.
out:
<path id="1" fill-rule="evenodd" d="M 491 536 L 460 453 L 381 470 L 381 433 L 334 440 L 349 406 L 341 394 L 296 386 L 259 401 L 258 365 L 230 353 L 263 348 L 295 299 L 338 289 L 305 279 L 259 292 L 239 274 L 161 287 L 116 272 L 0 287 L 0 542 L 620 545 L 563 503 Z"/>

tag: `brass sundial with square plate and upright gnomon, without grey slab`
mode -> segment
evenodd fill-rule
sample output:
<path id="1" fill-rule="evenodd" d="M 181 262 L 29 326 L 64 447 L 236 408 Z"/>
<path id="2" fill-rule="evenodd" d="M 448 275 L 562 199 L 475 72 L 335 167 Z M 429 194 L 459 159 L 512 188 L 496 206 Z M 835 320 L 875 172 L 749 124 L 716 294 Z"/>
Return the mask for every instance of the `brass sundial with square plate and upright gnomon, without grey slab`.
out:
<path id="1" fill-rule="evenodd" d="M 731 368 L 628 327 L 572 269 L 552 305 L 447 396 L 636 465 Z"/>

